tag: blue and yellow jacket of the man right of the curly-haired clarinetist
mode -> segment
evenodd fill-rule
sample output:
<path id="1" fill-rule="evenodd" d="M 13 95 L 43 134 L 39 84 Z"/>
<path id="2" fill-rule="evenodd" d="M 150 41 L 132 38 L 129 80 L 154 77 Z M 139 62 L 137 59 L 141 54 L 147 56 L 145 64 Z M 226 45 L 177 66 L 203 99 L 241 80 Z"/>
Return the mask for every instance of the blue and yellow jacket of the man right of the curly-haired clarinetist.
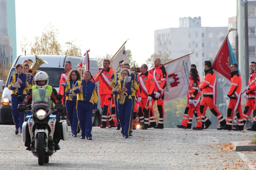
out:
<path id="1" fill-rule="evenodd" d="M 83 85 L 83 89 L 79 90 L 79 86 Z M 97 84 L 92 82 L 92 81 L 88 81 L 85 82 L 84 79 L 82 80 L 78 80 L 75 82 L 75 87 L 73 90 L 74 94 L 77 94 L 77 102 L 79 100 L 82 101 L 87 101 L 90 103 L 93 103 L 93 109 L 97 109 L 98 107 L 98 94 L 97 94 Z M 76 106 L 77 106 L 77 102 L 76 102 Z"/>

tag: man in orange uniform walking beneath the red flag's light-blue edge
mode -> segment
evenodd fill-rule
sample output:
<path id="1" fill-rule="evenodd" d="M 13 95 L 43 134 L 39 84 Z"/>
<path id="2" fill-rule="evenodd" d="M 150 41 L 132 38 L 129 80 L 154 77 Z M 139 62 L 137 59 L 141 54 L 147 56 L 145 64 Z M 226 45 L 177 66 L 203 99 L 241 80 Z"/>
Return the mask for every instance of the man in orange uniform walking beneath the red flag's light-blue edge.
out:
<path id="1" fill-rule="evenodd" d="M 232 118 L 233 113 L 237 115 L 238 118 L 238 126 L 233 131 L 242 131 L 244 129 L 243 123 L 243 112 L 241 108 L 241 89 L 242 89 L 242 81 L 241 76 L 238 72 L 238 65 L 233 63 L 230 65 L 231 71 L 231 81 L 230 81 L 230 89 L 228 91 L 228 95 L 226 99 L 229 100 L 228 111 L 227 111 L 227 123 L 225 126 L 221 126 L 217 128 L 217 130 L 229 130 L 232 129 Z"/>

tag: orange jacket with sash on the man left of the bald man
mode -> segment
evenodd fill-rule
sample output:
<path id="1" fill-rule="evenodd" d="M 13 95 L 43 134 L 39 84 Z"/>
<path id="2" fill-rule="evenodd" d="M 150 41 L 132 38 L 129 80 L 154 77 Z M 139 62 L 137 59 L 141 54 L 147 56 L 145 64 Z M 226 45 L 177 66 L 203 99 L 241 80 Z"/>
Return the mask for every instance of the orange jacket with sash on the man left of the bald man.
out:
<path id="1" fill-rule="evenodd" d="M 140 79 L 141 77 L 141 79 Z M 139 79 L 139 84 L 143 83 L 146 87 L 146 90 L 147 90 L 147 94 L 145 94 L 143 91 L 143 87 L 140 86 L 140 92 L 141 92 L 141 98 L 147 98 L 148 96 L 151 96 L 153 97 L 153 94 L 154 94 L 154 89 L 155 89 L 155 83 L 154 83 L 154 77 L 152 74 L 150 74 L 148 71 L 143 74 L 141 73 L 139 76 L 138 76 L 138 79 Z M 142 82 L 140 81 L 142 80 Z"/>

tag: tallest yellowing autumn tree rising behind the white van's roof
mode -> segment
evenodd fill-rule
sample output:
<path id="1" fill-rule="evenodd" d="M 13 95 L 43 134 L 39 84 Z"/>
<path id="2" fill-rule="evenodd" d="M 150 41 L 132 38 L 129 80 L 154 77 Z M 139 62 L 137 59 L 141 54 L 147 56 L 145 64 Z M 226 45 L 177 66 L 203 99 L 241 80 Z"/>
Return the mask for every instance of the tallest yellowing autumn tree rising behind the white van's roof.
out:
<path id="1" fill-rule="evenodd" d="M 60 55 L 61 46 L 57 41 L 57 35 L 58 30 L 49 25 L 41 37 L 35 37 L 35 42 L 31 43 L 31 54 Z"/>

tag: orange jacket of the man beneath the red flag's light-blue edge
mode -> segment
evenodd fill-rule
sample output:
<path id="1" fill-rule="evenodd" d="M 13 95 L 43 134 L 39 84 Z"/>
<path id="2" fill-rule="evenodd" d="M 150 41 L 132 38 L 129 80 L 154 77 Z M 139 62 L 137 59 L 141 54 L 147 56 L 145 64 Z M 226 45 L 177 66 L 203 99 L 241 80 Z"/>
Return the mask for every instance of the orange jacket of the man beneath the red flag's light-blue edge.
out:
<path id="1" fill-rule="evenodd" d="M 241 88 L 242 88 L 241 76 L 239 75 L 238 70 L 231 72 L 230 84 L 231 86 L 229 88 L 227 96 L 230 99 L 238 99 L 238 96 L 241 96 Z"/>

